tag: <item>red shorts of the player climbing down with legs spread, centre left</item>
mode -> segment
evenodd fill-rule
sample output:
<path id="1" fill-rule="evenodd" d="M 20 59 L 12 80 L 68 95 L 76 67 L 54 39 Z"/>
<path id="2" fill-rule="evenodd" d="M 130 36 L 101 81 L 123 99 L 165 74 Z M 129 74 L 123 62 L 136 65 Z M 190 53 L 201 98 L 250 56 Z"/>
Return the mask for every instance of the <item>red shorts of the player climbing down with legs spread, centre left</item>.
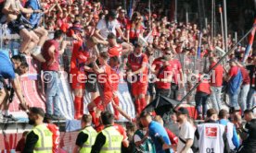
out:
<path id="1" fill-rule="evenodd" d="M 96 97 L 94 100 L 96 107 L 100 111 L 104 111 L 105 108 L 108 106 L 109 102 L 113 99 L 113 93 L 112 92 L 107 92 L 104 93 L 102 96 Z M 103 101 L 102 101 L 103 100 Z"/>

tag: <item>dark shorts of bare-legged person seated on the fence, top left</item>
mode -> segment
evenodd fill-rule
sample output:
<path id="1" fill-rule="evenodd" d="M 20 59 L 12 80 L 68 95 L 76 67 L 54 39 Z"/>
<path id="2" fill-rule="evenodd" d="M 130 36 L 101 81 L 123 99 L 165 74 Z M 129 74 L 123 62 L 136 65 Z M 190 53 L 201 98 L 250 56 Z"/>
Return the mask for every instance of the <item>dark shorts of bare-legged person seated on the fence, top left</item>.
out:
<path id="1" fill-rule="evenodd" d="M 32 29 L 32 25 L 30 23 L 27 23 L 27 21 L 24 19 L 24 17 L 19 16 L 17 19 L 12 20 L 8 23 L 8 29 L 11 30 L 12 33 L 18 33 L 21 29 Z"/>

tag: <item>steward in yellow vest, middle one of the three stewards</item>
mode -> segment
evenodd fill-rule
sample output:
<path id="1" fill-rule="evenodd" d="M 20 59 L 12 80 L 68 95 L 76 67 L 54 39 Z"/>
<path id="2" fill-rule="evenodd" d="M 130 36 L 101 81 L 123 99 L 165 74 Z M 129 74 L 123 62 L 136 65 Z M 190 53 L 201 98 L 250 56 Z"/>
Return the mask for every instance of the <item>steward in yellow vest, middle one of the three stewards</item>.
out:
<path id="1" fill-rule="evenodd" d="M 81 119 L 82 131 L 77 135 L 73 153 L 90 153 L 92 146 L 96 141 L 96 130 L 91 126 L 92 116 L 90 114 L 83 114 Z"/>

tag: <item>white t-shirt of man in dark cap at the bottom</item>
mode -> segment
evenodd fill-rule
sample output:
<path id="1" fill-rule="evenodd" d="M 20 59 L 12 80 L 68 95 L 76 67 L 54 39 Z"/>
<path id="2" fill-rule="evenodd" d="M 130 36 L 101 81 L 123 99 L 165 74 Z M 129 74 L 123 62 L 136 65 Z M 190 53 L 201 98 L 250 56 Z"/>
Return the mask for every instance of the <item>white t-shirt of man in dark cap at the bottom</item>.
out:
<path id="1" fill-rule="evenodd" d="M 186 140 L 189 138 L 194 140 L 194 135 L 195 135 L 195 129 L 192 124 L 188 122 L 181 124 L 179 137 L 181 137 L 183 140 Z M 185 147 L 185 144 L 179 139 L 178 146 L 177 146 L 177 153 L 180 153 L 184 147 Z M 193 153 L 193 151 L 191 148 L 189 148 L 186 153 Z"/>

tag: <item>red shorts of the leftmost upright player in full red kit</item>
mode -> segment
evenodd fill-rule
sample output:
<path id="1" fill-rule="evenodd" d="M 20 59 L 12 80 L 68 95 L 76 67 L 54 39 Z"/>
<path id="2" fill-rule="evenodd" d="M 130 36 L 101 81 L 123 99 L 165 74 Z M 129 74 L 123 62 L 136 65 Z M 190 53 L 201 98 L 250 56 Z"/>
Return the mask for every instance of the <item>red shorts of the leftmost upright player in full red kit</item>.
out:
<path id="1" fill-rule="evenodd" d="M 72 89 L 85 89 L 86 76 L 84 74 L 71 74 Z"/>

